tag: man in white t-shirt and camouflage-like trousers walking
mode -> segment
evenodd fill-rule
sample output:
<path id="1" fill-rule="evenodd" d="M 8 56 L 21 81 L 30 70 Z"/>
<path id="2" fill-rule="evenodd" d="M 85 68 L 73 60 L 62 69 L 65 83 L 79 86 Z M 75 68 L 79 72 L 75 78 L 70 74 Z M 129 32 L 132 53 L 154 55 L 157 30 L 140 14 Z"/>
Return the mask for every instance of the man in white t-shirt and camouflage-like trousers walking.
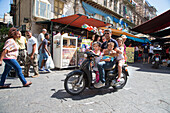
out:
<path id="1" fill-rule="evenodd" d="M 30 31 L 26 31 L 26 36 L 28 38 L 27 42 L 27 57 L 26 57 L 26 63 L 25 63 L 25 70 L 24 70 L 24 76 L 29 76 L 29 69 L 30 65 L 33 66 L 34 69 L 34 76 L 32 77 L 38 77 L 38 48 L 37 48 L 37 39 L 32 36 L 32 33 Z"/>

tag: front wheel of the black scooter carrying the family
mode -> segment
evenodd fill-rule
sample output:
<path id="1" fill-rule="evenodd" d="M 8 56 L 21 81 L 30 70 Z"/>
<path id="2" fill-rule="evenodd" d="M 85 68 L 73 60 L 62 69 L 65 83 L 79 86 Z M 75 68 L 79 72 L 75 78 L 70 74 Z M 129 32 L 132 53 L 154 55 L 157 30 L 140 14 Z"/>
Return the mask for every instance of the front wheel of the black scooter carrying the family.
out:
<path id="1" fill-rule="evenodd" d="M 64 88 L 67 93 L 71 95 L 78 95 L 84 91 L 86 87 L 86 81 L 83 75 L 72 74 L 66 77 L 64 81 Z"/>

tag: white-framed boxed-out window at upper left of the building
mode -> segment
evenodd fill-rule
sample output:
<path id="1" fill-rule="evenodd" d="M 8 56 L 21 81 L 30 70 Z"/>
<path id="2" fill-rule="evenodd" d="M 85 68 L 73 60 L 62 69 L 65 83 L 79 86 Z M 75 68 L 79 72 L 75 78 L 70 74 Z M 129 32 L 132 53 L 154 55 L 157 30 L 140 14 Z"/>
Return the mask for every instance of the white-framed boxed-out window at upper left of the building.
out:
<path id="1" fill-rule="evenodd" d="M 51 4 L 47 0 L 36 0 L 35 1 L 35 16 L 42 18 L 50 18 L 50 7 Z"/>

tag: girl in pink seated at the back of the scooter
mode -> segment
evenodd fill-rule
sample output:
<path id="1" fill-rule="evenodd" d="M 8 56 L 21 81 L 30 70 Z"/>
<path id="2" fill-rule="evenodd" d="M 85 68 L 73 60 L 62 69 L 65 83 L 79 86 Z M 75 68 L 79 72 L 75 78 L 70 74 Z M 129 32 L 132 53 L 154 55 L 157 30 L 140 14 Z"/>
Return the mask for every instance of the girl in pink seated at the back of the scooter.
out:
<path id="1" fill-rule="evenodd" d="M 118 78 L 117 78 L 117 82 L 120 82 L 120 78 L 121 78 L 121 73 L 122 73 L 122 66 L 125 62 L 124 60 L 124 47 L 123 47 L 123 39 L 122 38 L 117 38 L 116 39 L 117 43 L 118 43 L 118 48 L 122 51 L 122 54 L 118 54 L 117 56 L 117 61 L 118 61 Z"/>

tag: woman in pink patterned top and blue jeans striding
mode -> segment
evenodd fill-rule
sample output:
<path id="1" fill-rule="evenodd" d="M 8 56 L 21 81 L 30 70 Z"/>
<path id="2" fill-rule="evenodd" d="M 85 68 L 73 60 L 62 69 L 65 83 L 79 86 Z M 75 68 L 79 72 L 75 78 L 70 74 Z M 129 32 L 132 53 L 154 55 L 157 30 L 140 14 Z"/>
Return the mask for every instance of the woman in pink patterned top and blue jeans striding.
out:
<path id="1" fill-rule="evenodd" d="M 4 85 L 4 83 L 12 67 L 15 69 L 24 87 L 32 84 L 32 82 L 28 82 L 25 80 L 25 77 L 22 73 L 22 68 L 16 60 L 18 56 L 18 46 L 15 42 L 15 39 L 17 38 L 16 30 L 17 29 L 14 27 L 10 28 L 8 32 L 8 40 L 5 42 L 5 45 L 3 47 L 3 52 L 0 57 L 0 65 L 2 64 L 2 60 L 5 62 L 4 72 L 1 75 L 0 88 L 10 87 L 10 84 Z"/>

